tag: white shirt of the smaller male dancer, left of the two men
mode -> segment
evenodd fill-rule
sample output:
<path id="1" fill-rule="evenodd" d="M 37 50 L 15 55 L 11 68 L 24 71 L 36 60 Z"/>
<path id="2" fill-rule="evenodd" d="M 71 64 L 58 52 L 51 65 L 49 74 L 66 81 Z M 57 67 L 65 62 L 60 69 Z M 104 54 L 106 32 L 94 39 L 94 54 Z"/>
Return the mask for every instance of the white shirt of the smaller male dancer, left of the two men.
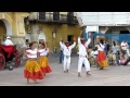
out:
<path id="1" fill-rule="evenodd" d="M 64 56 L 70 56 L 72 54 L 72 49 L 75 48 L 76 42 L 74 42 L 72 46 L 69 46 L 68 49 L 64 44 L 62 44 L 62 41 L 60 41 L 60 46 L 63 48 Z"/>

